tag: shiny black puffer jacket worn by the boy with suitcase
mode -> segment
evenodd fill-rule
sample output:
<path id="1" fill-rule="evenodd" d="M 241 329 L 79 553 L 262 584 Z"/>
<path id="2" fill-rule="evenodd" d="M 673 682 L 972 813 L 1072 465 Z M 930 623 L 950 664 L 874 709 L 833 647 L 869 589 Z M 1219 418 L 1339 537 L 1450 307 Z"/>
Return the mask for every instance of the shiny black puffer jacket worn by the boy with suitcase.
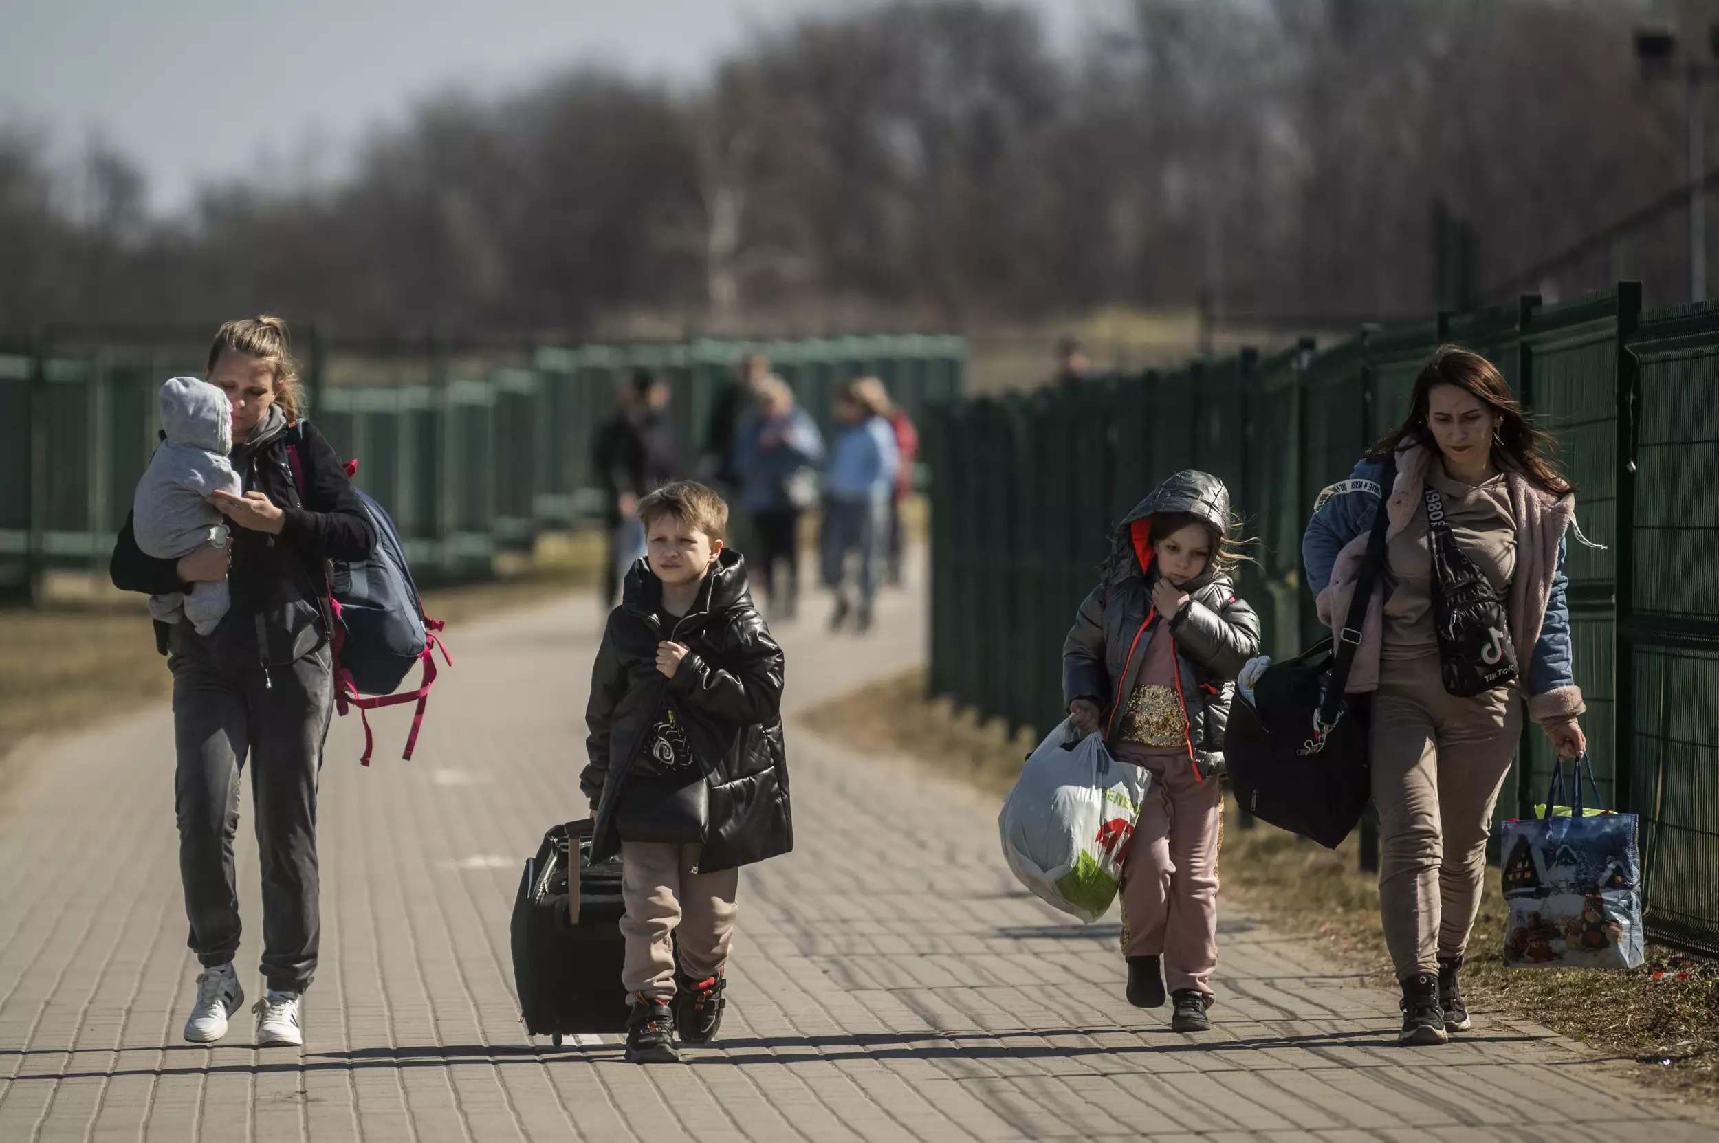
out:
<path id="1" fill-rule="evenodd" d="M 674 627 L 657 620 L 662 581 L 639 560 L 627 572 L 621 607 L 609 614 L 591 669 L 590 765 L 579 789 L 596 804 L 591 859 L 621 849 L 615 804 L 650 724 L 672 706 L 693 756 L 710 782 L 710 828 L 698 868 L 749 865 L 794 847 L 782 748 L 782 648 L 770 638 L 746 586 L 746 560 L 724 552 L 698 602 Z M 688 648 L 667 679 L 657 645 Z"/>

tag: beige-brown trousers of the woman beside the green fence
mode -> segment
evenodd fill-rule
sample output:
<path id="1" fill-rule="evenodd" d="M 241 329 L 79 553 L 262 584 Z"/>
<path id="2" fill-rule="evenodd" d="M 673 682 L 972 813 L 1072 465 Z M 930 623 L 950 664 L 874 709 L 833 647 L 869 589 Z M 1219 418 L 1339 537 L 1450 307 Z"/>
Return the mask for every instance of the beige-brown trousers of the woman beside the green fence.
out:
<path id="1" fill-rule="evenodd" d="M 1520 741 L 1514 689 L 1456 698 L 1437 651 L 1380 663 L 1370 734 L 1379 914 L 1398 980 L 1468 949 L 1492 806 Z"/>

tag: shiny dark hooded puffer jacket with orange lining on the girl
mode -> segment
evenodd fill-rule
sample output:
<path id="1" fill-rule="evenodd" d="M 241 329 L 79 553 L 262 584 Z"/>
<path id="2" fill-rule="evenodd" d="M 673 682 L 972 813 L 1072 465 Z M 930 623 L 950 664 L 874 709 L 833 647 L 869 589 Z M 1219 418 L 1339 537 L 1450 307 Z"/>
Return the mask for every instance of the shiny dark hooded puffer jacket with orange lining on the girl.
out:
<path id="1" fill-rule="evenodd" d="M 1152 565 L 1147 543 L 1157 512 L 1190 512 L 1224 529 L 1229 492 L 1210 473 L 1186 469 L 1159 485 L 1116 529 L 1116 548 L 1105 564 L 1104 583 L 1080 605 L 1074 626 L 1062 645 L 1062 700 L 1085 698 L 1105 717 L 1105 739 L 1116 724 L 1117 705 L 1140 684 L 1147 646 L 1164 634 L 1164 617 L 1153 612 Z M 1207 565 L 1191 583 L 1181 584 L 1188 603 L 1169 619 L 1176 646 L 1176 674 L 1188 715 L 1188 743 L 1195 765 L 1210 773 L 1224 765 L 1224 725 L 1229 700 L 1243 663 L 1260 653 L 1260 620 L 1236 598 L 1229 576 Z"/>

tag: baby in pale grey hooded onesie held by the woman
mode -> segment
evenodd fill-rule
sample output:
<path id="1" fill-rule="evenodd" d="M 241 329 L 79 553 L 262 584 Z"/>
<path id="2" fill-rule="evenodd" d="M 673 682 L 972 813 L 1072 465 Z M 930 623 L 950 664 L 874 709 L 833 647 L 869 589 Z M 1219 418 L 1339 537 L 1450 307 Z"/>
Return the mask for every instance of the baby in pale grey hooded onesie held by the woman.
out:
<path id="1" fill-rule="evenodd" d="M 194 376 L 175 376 L 162 385 L 160 406 L 167 440 L 138 481 L 131 526 L 144 555 L 177 560 L 206 543 L 225 547 L 227 521 L 206 497 L 244 495 L 244 481 L 227 459 L 232 452 L 227 394 Z M 170 624 L 189 619 L 198 634 L 210 634 L 227 603 L 227 581 L 208 579 L 189 593 L 151 595 L 150 614 Z"/>

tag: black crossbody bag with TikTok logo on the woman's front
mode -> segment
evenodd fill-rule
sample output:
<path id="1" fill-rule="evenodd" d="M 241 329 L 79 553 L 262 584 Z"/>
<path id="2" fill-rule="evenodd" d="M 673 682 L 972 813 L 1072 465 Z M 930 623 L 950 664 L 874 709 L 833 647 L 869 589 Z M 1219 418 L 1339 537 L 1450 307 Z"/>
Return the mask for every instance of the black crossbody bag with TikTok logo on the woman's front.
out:
<path id="1" fill-rule="evenodd" d="M 1427 536 L 1432 548 L 1432 624 L 1439 633 L 1439 674 L 1458 698 L 1483 694 L 1516 679 L 1509 612 L 1480 567 L 1456 547 L 1444 500 L 1427 485 Z"/>

